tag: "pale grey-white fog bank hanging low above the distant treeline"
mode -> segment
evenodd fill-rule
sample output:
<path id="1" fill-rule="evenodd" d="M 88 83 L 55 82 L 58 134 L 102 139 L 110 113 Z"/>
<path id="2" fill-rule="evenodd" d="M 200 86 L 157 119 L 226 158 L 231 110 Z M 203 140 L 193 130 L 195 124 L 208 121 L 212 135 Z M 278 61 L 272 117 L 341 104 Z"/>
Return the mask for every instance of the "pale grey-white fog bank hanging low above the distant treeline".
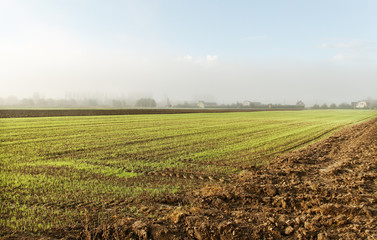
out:
<path id="1" fill-rule="evenodd" d="M 21 57 L 21 56 L 19 56 Z M 25 56 L 23 56 L 25 57 Z M 52 57 L 53 58 L 53 57 Z M 261 101 L 307 104 L 351 102 L 375 96 L 376 68 L 337 63 L 195 62 L 81 56 L 76 63 L 34 60 L 22 70 L 2 71 L 3 97 L 141 98 L 218 103 Z M 2 63 L 9 66 L 12 63 Z M 62 65 L 65 65 L 62 67 Z"/>

